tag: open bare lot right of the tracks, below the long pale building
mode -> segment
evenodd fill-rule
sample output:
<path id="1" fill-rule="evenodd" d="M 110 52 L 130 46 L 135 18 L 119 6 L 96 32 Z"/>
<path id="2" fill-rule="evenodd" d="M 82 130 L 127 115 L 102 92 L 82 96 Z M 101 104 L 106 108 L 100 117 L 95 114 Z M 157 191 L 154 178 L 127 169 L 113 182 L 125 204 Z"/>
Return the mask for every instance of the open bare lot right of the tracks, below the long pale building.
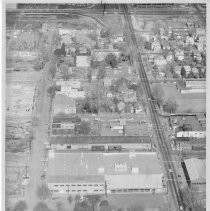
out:
<path id="1" fill-rule="evenodd" d="M 181 94 L 172 83 L 152 84 L 163 89 L 164 99 L 172 98 L 178 104 L 177 112 L 205 112 L 206 111 L 206 94 L 205 93 L 189 93 Z"/>

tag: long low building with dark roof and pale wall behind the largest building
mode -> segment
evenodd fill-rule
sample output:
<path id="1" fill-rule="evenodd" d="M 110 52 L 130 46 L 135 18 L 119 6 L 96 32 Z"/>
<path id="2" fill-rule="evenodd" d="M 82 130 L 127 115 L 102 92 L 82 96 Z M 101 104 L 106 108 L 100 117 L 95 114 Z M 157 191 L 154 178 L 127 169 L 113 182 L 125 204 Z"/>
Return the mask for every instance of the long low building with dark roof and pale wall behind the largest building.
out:
<path id="1" fill-rule="evenodd" d="M 149 136 L 88 136 L 51 137 L 51 149 L 92 150 L 92 151 L 152 151 L 152 140 Z"/>

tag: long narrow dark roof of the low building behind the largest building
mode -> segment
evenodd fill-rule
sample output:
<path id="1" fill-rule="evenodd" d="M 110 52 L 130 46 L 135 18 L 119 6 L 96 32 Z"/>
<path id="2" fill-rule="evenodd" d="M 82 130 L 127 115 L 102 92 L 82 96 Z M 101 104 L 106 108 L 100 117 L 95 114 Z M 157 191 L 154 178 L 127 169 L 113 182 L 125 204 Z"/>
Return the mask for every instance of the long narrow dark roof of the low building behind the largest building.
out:
<path id="1" fill-rule="evenodd" d="M 151 143 L 149 136 L 52 137 L 51 144 Z"/>

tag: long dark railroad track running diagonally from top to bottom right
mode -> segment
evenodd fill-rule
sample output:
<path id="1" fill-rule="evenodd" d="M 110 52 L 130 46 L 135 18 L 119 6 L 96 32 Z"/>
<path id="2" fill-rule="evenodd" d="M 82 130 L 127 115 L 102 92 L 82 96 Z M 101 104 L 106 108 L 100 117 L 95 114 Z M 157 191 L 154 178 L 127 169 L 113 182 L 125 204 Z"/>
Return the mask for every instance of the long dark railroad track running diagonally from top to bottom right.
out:
<path id="1" fill-rule="evenodd" d="M 138 48 L 138 43 L 137 43 L 137 40 L 135 37 L 135 32 L 134 32 L 133 24 L 131 21 L 131 17 L 129 15 L 128 7 L 127 7 L 127 5 L 122 5 L 122 7 L 124 9 L 125 20 L 127 21 L 128 26 L 129 26 L 132 48 L 134 48 L 134 49 Z M 166 143 L 164 133 L 160 128 L 161 123 L 160 123 L 158 114 L 155 111 L 155 105 L 154 105 L 153 101 L 151 100 L 152 92 L 150 89 L 150 85 L 149 85 L 149 81 L 147 79 L 146 72 L 144 70 L 140 52 L 138 52 L 138 54 L 135 56 L 134 59 L 137 61 L 137 68 L 139 71 L 139 76 L 141 79 L 142 86 L 145 90 L 145 95 L 146 95 L 152 123 L 154 125 L 156 125 L 156 127 L 157 127 L 157 130 L 155 130 L 156 136 L 157 136 L 157 148 L 162 156 L 162 159 L 165 161 L 165 162 L 163 162 L 163 165 L 164 165 L 164 168 L 166 171 L 167 178 L 169 179 L 168 184 L 169 184 L 169 187 L 170 187 L 170 190 L 171 190 L 173 196 L 175 197 L 174 201 L 177 204 L 178 210 L 183 210 L 184 206 L 183 206 L 183 202 L 182 202 L 182 196 L 180 194 L 179 184 L 177 182 L 178 178 L 175 173 L 175 167 L 174 167 L 173 162 L 172 163 L 169 162 L 172 160 L 172 156 L 170 154 L 169 147 Z"/>

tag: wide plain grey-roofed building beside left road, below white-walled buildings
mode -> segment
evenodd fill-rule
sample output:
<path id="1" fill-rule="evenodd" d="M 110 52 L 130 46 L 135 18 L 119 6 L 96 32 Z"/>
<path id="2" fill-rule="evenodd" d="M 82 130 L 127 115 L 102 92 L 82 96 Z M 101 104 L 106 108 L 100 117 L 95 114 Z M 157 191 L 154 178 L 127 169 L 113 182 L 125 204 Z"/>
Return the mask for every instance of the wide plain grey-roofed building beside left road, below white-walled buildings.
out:
<path id="1" fill-rule="evenodd" d="M 62 94 L 56 94 L 54 101 L 54 115 L 57 115 L 59 113 L 75 114 L 75 100 Z"/>

